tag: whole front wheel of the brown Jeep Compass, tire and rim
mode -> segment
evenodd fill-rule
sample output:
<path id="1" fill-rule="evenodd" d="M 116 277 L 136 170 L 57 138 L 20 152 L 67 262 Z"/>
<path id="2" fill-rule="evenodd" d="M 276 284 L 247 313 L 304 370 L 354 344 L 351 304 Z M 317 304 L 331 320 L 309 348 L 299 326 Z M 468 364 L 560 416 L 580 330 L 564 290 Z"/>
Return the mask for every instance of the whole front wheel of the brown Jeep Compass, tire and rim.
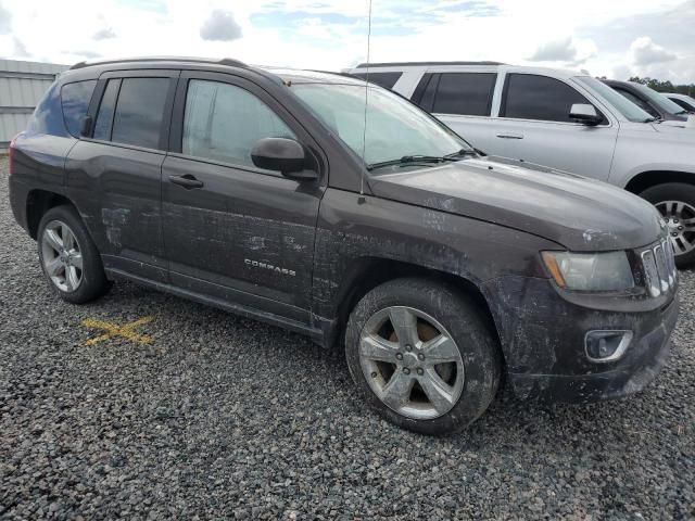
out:
<path id="1" fill-rule="evenodd" d="M 495 397 L 502 370 L 496 335 L 477 306 L 425 279 L 396 279 L 367 293 L 350 315 L 345 357 L 372 409 L 430 435 L 458 432 L 478 419 Z"/>

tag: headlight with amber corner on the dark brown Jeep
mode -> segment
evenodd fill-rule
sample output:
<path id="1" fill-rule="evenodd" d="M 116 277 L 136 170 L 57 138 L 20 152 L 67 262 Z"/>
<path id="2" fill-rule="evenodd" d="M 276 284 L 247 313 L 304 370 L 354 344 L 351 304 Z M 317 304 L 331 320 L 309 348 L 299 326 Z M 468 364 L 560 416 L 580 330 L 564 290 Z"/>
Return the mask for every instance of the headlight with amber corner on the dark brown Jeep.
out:
<path id="1" fill-rule="evenodd" d="M 626 252 L 541 252 L 560 288 L 579 291 L 621 291 L 634 288 Z"/>

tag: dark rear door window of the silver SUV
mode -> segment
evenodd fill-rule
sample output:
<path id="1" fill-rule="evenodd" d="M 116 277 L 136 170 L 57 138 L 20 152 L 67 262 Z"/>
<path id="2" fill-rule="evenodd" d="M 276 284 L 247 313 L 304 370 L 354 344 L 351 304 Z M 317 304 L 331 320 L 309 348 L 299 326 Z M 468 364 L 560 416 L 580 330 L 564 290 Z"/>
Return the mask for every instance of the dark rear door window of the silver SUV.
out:
<path id="1" fill-rule="evenodd" d="M 489 116 L 496 80 L 493 73 L 443 73 L 432 112 Z"/>

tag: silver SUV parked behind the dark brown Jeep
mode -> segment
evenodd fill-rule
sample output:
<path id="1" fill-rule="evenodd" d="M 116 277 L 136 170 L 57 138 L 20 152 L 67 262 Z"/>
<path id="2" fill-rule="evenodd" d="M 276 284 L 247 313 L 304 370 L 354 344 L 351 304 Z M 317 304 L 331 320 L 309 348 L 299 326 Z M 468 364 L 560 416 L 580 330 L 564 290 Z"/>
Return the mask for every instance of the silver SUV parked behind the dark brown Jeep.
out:
<path id="1" fill-rule="evenodd" d="M 495 62 L 345 71 L 431 112 L 476 148 L 601 179 L 661 212 L 680 267 L 695 263 L 695 131 L 659 123 L 585 73 Z"/>

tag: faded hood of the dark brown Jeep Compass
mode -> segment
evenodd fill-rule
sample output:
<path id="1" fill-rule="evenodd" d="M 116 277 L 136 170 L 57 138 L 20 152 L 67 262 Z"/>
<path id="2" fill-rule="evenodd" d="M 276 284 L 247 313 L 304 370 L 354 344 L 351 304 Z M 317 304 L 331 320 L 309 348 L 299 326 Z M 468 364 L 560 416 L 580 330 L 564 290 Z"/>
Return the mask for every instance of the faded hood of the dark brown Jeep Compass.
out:
<path id="1" fill-rule="evenodd" d="M 463 160 L 374 177 L 375 195 L 533 233 L 577 252 L 643 246 L 664 233 L 649 203 L 619 188 L 506 160 Z"/>

